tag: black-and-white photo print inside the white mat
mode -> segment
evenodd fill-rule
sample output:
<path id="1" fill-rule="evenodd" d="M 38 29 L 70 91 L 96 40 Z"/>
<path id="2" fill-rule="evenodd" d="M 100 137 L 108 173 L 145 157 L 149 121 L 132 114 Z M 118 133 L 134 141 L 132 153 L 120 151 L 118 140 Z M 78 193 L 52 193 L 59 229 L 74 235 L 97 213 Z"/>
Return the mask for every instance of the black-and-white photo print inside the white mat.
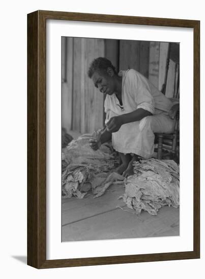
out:
<path id="1" fill-rule="evenodd" d="M 180 235 L 180 44 L 62 37 L 62 241 Z"/>

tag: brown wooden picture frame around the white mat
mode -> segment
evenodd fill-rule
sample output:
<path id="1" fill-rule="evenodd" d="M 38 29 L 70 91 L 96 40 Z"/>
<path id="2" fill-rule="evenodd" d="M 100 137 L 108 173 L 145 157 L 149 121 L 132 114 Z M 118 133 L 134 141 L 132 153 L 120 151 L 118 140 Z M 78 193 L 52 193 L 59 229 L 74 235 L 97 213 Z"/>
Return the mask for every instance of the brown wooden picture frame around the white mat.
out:
<path id="1" fill-rule="evenodd" d="M 46 20 L 193 28 L 194 33 L 194 231 L 193 251 L 46 260 Z M 36 11 L 27 15 L 27 264 L 54 268 L 200 257 L 200 22 L 196 20 Z"/>

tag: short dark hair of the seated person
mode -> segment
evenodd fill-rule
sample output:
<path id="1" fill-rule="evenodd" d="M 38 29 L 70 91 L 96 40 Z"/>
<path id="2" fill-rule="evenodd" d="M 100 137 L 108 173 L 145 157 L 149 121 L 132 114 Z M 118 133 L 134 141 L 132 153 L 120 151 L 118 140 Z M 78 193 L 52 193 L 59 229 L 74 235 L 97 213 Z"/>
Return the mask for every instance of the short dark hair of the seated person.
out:
<path id="1" fill-rule="evenodd" d="M 96 72 L 96 71 L 101 72 L 101 73 L 107 73 L 108 67 L 113 69 L 115 75 L 117 74 L 115 67 L 112 65 L 110 60 L 108 60 L 105 57 L 98 57 L 91 62 L 87 75 L 91 79 L 94 72 Z"/>

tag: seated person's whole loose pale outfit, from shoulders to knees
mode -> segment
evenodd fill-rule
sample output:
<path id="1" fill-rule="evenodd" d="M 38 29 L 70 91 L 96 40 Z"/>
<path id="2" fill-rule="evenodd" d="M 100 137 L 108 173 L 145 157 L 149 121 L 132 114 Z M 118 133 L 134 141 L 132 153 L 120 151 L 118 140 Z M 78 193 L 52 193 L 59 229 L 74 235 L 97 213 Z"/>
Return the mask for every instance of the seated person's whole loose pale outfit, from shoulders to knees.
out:
<path id="1" fill-rule="evenodd" d="M 134 69 L 123 71 L 122 102 L 115 94 L 105 98 L 105 124 L 111 117 L 144 109 L 153 116 L 140 121 L 123 124 L 119 131 L 112 133 L 112 146 L 121 153 L 134 153 L 151 158 L 154 152 L 154 132 L 171 132 L 174 121 L 168 116 L 173 103 L 153 84 Z"/>

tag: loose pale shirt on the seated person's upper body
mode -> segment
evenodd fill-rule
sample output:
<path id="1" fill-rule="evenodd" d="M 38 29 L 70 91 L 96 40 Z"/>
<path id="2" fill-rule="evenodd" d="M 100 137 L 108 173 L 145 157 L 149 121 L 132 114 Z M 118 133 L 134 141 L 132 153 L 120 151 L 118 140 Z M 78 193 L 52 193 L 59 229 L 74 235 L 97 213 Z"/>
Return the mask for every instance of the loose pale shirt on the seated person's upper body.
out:
<path id="1" fill-rule="evenodd" d="M 123 107 L 115 94 L 107 95 L 104 102 L 106 123 L 109 120 L 109 111 L 122 115 L 136 109 L 144 109 L 152 114 L 168 114 L 173 105 L 148 79 L 134 69 L 121 71 Z"/>

